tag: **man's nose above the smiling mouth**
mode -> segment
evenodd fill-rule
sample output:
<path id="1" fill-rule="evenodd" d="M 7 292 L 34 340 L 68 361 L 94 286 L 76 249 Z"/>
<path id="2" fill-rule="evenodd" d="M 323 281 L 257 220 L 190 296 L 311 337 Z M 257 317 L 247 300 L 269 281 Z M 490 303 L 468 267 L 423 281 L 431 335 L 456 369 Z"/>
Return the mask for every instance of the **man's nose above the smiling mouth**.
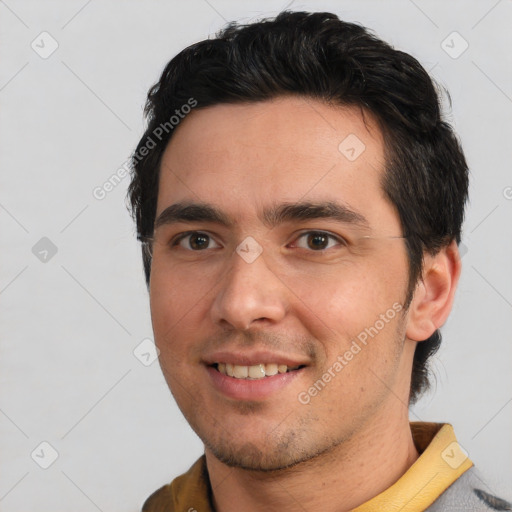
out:
<path id="1" fill-rule="evenodd" d="M 211 308 L 213 321 L 237 330 L 276 323 L 287 311 L 287 288 L 267 266 L 263 254 L 248 263 L 234 253 Z"/>

